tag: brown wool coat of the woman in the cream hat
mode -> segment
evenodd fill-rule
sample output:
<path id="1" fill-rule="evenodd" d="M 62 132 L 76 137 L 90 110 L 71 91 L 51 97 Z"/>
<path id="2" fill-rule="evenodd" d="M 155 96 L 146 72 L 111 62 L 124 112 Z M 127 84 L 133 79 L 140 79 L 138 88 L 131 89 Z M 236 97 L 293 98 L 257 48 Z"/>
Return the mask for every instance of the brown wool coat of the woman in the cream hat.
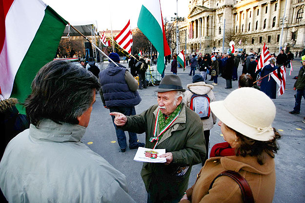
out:
<path id="1" fill-rule="evenodd" d="M 266 155 L 264 165 L 259 165 L 255 157 L 227 156 L 213 157 L 205 162 L 199 179 L 186 190 L 188 199 L 180 203 L 243 203 L 239 185 L 230 177 L 221 176 L 213 187 L 213 179 L 224 170 L 241 174 L 252 190 L 255 203 L 272 203 L 275 190 L 274 159 Z"/>

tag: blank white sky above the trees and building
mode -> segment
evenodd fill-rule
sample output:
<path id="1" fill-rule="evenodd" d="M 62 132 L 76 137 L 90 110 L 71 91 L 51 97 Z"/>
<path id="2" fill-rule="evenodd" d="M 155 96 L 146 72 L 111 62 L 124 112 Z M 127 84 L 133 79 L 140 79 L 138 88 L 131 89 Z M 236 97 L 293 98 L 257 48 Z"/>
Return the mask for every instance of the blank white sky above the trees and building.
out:
<path id="1" fill-rule="evenodd" d="M 42 0 L 72 25 L 95 22 L 99 31 L 122 30 L 130 19 L 131 28 L 137 27 L 142 0 Z M 163 18 L 175 17 L 177 0 L 161 0 Z M 188 15 L 189 0 L 178 0 L 178 16 Z"/>

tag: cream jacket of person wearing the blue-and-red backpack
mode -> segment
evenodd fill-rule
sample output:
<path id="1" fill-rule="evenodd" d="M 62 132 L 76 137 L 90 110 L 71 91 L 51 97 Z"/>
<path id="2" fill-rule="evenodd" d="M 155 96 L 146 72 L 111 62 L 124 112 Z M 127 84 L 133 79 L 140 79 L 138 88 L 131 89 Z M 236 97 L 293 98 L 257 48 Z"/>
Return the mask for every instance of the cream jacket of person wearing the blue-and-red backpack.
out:
<path id="1" fill-rule="evenodd" d="M 213 85 L 208 85 L 205 82 L 195 82 L 188 84 L 187 91 L 185 91 L 185 105 L 187 107 L 190 106 L 191 97 L 193 95 L 192 92 L 195 94 L 207 94 L 207 96 L 210 98 L 210 102 L 216 101 L 214 93 L 213 93 Z M 190 90 L 190 91 L 189 91 Z M 191 92 L 192 91 L 192 92 Z M 203 130 L 210 130 L 213 128 L 213 125 L 216 123 L 217 117 L 214 115 L 213 112 L 211 112 L 211 115 L 208 119 L 202 119 L 201 122 L 203 124 Z"/>

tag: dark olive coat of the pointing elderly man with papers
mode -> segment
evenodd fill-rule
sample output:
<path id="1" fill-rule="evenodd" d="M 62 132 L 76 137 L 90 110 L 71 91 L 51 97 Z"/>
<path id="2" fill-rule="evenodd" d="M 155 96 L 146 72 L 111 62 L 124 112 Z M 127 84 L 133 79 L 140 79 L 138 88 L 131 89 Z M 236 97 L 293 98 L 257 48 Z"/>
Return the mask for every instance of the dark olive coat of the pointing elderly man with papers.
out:
<path id="1" fill-rule="evenodd" d="M 122 129 L 145 132 L 145 148 L 153 148 L 154 125 L 158 105 L 150 107 L 140 115 L 127 116 L 127 122 Z M 158 128 L 159 133 L 159 128 Z M 183 105 L 176 121 L 167 129 L 156 148 L 165 148 L 172 152 L 173 161 L 169 165 L 163 163 L 143 163 L 141 176 L 146 190 L 164 199 L 176 199 L 187 189 L 191 166 L 201 163 L 201 155 L 205 155 L 203 125 L 197 113 Z M 179 167 L 189 166 L 184 175 L 177 175 Z M 181 168 L 180 168 L 181 169 Z"/>

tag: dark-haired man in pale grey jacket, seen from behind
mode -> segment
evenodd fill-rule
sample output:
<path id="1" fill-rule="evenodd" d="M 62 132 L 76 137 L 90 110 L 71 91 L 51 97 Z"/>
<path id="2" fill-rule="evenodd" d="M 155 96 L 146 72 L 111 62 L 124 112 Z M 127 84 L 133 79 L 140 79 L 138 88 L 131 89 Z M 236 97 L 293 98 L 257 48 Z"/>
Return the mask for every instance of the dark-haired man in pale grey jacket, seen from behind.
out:
<path id="1" fill-rule="evenodd" d="M 98 79 L 59 60 L 44 65 L 31 87 L 24 102 L 30 129 L 11 140 L 0 163 L 8 202 L 134 203 L 125 176 L 81 142 Z"/>

